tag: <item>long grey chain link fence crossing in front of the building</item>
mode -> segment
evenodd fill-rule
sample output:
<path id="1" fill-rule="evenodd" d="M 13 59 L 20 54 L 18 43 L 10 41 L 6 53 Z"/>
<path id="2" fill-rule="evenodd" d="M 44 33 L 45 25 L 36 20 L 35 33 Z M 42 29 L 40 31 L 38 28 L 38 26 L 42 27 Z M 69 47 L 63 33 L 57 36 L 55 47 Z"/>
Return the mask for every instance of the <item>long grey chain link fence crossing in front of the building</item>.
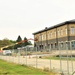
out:
<path id="1" fill-rule="evenodd" d="M 37 50 L 36 47 L 27 46 L 4 51 L 0 52 L 0 59 L 55 71 L 61 75 L 74 75 L 75 50 L 50 50 L 50 48 Z"/>

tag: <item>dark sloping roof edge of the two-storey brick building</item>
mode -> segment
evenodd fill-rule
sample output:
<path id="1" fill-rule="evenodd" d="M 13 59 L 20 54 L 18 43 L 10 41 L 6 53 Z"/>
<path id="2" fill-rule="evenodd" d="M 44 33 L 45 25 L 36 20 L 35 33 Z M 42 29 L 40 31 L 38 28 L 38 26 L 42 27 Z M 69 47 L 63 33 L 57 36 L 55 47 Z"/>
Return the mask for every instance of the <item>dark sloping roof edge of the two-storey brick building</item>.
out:
<path id="1" fill-rule="evenodd" d="M 33 33 L 33 35 L 38 34 L 38 33 L 41 33 L 41 32 L 44 32 L 44 31 L 47 31 L 47 30 L 50 30 L 50 29 L 53 29 L 53 28 L 57 28 L 57 27 L 63 26 L 63 25 L 65 25 L 65 24 L 71 24 L 71 23 L 74 24 L 74 23 L 75 23 L 75 19 L 62 22 L 62 23 L 60 23 L 60 24 L 51 26 L 51 27 L 49 27 L 49 28 L 45 27 L 45 29 L 42 29 L 42 30 L 40 30 L 40 31 L 37 31 L 37 32 Z"/>

